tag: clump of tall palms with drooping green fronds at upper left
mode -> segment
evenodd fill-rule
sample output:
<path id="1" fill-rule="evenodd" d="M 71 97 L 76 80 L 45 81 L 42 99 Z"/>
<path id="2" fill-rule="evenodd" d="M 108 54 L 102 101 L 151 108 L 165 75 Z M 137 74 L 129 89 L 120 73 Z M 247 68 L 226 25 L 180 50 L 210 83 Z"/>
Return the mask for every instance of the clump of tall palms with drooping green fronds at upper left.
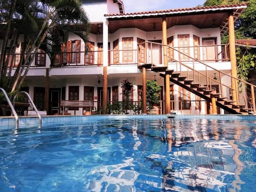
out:
<path id="1" fill-rule="evenodd" d="M 89 43 L 90 21 L 81 0 L 1 0 L 0 13 L 0 21 L 5 23 L 1 24 L 4 29 L 1 55 L 6 55 L 0 58 L 0 86 L 3 86 L 2 77 L 9 76 L 7 85 L 11 92 L 21 87 L 38 49 L 46 52 L 52 64 L 70 32 L 86 45 Z M 15 58 L 20 34 L 24 42 L 14 76 L 10 78 L 13 62 L 9 74 L 6 71 L 11 56 L 11 60 Z M 8 36 L 11 36 L 11 46 L 7 49 Z"/>

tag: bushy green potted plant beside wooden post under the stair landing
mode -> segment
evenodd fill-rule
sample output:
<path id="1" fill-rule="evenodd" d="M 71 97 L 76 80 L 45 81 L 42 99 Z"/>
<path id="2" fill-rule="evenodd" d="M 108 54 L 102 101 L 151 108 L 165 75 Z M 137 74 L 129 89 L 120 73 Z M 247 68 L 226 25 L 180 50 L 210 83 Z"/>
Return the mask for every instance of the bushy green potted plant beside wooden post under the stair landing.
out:
<path id="1" fill-rule="evenodd" d="M 157 110 L 154 109 L 154 104 L 159 103 L 159 94 L 161 87 L 157 81 L 147 80 L 146 82 L 146 101 L 147 101 L 147 114 L 157 114 Z"/>

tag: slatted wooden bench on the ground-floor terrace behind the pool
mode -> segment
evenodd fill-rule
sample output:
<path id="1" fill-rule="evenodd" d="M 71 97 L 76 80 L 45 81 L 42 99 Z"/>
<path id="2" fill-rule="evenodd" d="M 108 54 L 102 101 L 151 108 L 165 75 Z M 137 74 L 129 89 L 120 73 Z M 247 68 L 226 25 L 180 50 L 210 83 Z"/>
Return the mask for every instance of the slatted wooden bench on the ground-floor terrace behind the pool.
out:
<path id="1" fill-rule="evenodd" d="M 90 109 L 91 114 L 91 107 L 93 107 L 93 101 L 70 101 L 70 100 L 61 100 L 61 107 L 64 108 L 74 108 L 72 110 L 76 111 L 76 108 L 88 108 Z M 75 115 L 75 114 L 74 114 Z"/>

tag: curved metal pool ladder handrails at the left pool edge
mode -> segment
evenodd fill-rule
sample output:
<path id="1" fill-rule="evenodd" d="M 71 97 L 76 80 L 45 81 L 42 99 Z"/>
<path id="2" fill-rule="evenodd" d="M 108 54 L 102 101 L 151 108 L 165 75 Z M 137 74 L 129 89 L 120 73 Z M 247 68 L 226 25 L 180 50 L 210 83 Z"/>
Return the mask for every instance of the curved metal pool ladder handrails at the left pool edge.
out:
<path id="1" fill-rule="evenodd" d="M 15 100 L 16 100 L 17 96 L 18 96 L 19 94 L 22 94 L 22 93 L 25 94 L 25 95 L 27 95 L 27 97 L 28 97 L 30 103 L 31 103 L 32 106 L 33 106 L 33 109 L 35 110 L 35 112 L 37 113 L 37 116 L 38 116 L 38 118 L 39 118 L 39 127 L 42 126 L 42 117 L 41 117 L 41 115 L 39 114 L 39 112 L 38 112 L 38 110 L 37 110 L 37 107 L 35 106 L 34 102 L 32 101 L 30 95 L 29 95 L 26 91 L 19 91 L 16 95 L 14 95 L 14 98 L 13 98 L 13 105 L 12 105 L 12 104 L 11 104 L 11 101 L 10 101 L 10 99 L 9 99 L 9 97 L 8 97 L 8 95 L 7 95 L 6 92 L 5 92 L 5 90 L 4 90 L 3 88 L 1 88 L 1 87 L 0 87 L 0 90 L 3 92 L 3 95 L 5 96 L 5 99 L 6 99 L 7 103 L 8 103 L 8 105 L 9 105 L 10 108 L 11 108 L 11 116 L 14 115 L 14 117 L 15 117 L 15 122 L 16 122 L 16 123 L 15 123 L 15 127 L 16 127 L 16 128 L 19 127 L 19 117 L 18 117 L 18 115 L 17 115 L 17 113 L 16 113 L 16 111 L 15 111 L 15 109 L 14 109 L 14 105 L 15 105 Z"/>

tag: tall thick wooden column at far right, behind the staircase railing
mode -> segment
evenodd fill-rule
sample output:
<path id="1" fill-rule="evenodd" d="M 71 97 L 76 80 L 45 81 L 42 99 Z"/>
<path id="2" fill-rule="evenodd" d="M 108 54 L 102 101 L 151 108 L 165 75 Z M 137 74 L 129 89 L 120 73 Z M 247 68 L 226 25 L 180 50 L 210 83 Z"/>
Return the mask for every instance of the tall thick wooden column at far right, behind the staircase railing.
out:
<path id="1" fill-rule="evenodd" d="M 231 75 L 237 78 L 237 58 L 235 55 L 235 31 L 233 12 L 229 13 L 229 55 L 231 63 Z M 233 101 L 237 101 L 234 104 L 238 104 L 238 85 L 237 81 L 234 78 L 231 78 L 231 87 L 235 89 L 232 90 L 232 99 Z"/>

